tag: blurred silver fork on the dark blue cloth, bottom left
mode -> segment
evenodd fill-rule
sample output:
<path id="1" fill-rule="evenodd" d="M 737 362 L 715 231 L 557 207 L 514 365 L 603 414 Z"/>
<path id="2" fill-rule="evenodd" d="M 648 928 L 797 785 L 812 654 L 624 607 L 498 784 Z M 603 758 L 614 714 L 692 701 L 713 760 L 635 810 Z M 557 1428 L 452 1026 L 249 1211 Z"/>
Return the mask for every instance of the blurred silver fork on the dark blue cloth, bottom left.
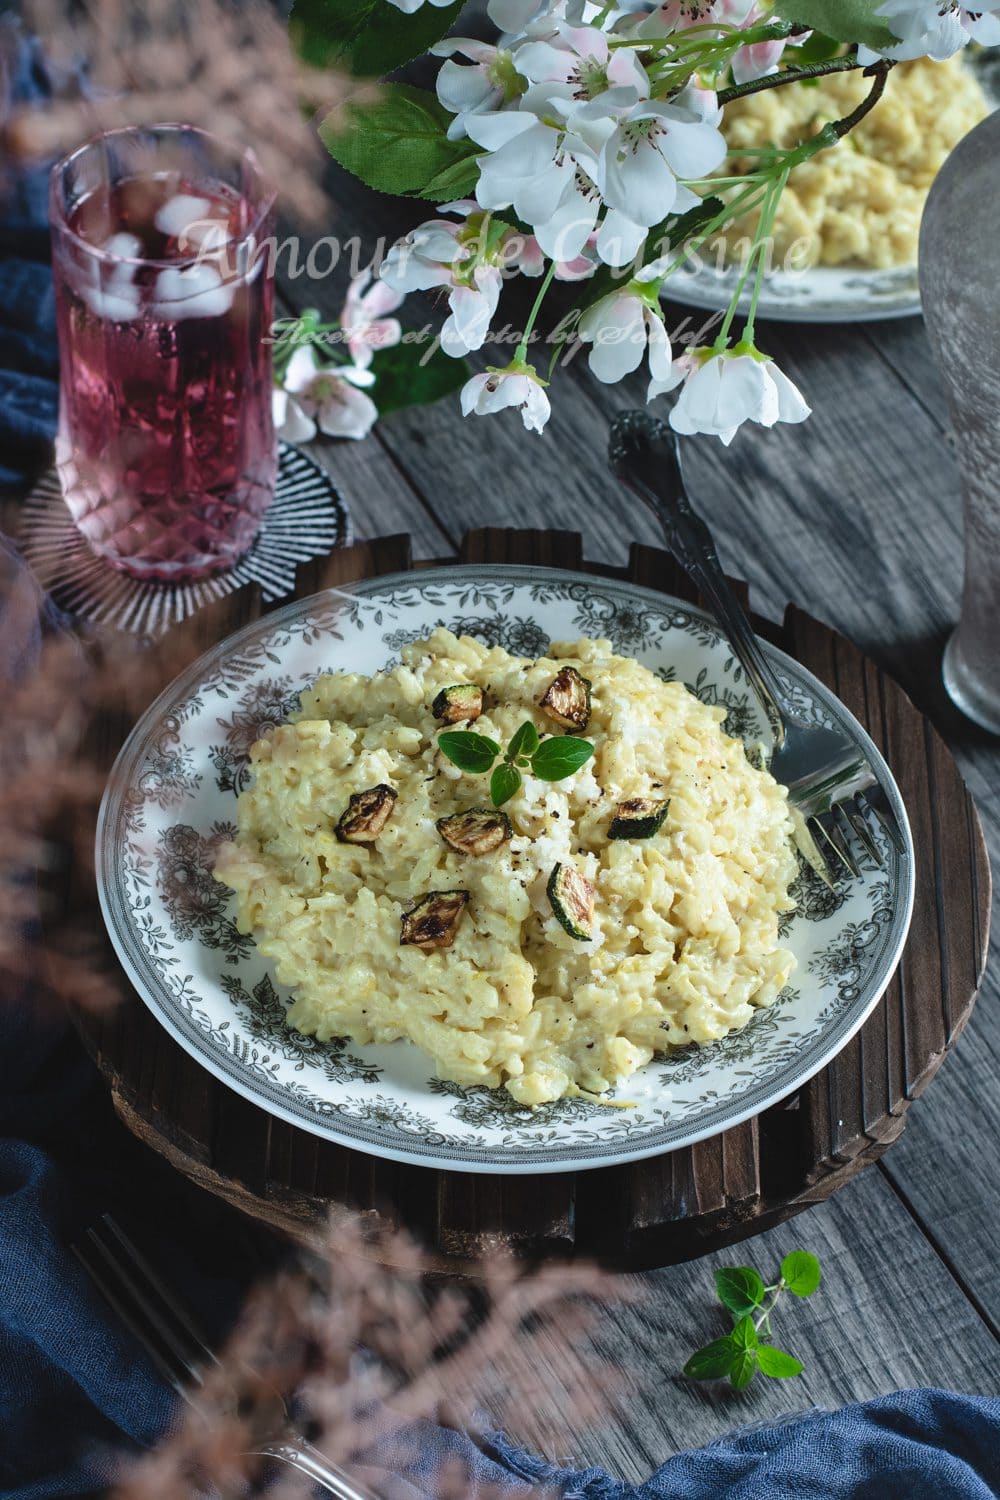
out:
<path id="1" fill-rule="evenodd" d="M 70 1248 L 112 1311 L 142 1344 L 156 1370 L 177 1395 L 196 1408 L 205 1372 L 213 1365 L 217 1368 L 219 1360 L 204 1342 L 187 1310 L 109 1214 L 103 1214 Z M 378 1500 L 372 1490 L 330 1462 L 294 1430 L 277 1392 L 273 1410 L 264 1414 L 273 1436 L 249 1450 L 247 1456 L 288 1464 L 337 1500 Z"/>

